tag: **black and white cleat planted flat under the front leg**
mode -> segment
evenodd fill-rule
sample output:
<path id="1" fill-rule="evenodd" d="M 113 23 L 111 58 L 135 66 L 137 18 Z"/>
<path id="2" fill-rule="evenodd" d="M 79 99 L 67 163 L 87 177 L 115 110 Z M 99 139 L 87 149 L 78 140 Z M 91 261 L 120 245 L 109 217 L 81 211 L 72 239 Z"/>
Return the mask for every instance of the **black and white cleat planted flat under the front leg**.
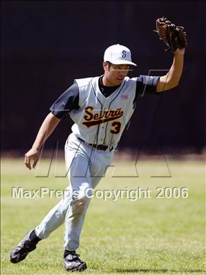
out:
<path id="1" fill-rule="evenodd" d="M 64 267 L 67 271 L 83 271 L 87 269 L 86 263 L 80 260 L 80 255 L 76 254 L 75 251 L 70 251 L 64 258 Z"/>

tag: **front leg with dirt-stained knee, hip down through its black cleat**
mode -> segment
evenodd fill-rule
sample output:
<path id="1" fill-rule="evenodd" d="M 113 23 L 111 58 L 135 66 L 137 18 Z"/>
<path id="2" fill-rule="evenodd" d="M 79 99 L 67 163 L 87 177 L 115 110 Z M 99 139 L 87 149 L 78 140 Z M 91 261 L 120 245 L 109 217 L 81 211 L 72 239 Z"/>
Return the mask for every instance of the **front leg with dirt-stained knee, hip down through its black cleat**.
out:
<path id="1" fill-rule="evenodd" d="M 77 196 L 73 198 L 65 218 L 64 266 L 68 271 L 82 271 L 87 268 L 86 263 L 82 262 L 79 255 L 76 254 L 76 249 L 79 246 L 80 232 L 89 206 L 91 188 L 95 188 L 100 179 L 104 177 L 106 168 L 111 164 L 113 157 L 113 152 L 104 153 L 84 144 L 82 144 L 82 151 L 87 151 L 87 156 L 76 157 L 69 170 L 71 186 L 78 192 Z"/>

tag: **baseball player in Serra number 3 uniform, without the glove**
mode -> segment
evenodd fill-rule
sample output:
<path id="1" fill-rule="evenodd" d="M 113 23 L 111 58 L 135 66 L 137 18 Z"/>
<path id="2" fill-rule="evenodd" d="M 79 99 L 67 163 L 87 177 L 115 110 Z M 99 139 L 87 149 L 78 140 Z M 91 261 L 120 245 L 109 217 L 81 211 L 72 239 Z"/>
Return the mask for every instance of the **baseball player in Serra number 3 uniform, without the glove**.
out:
<path id="1" fill-rule="evenodd" d="M 69 115 L 74 122 L 65 144 L 69 192 L 12 250 L 12 263 L 23 261 L 28 253 L 36 249 L 39 241 L 65 223 L 65 270 L 82 271 L 87 268 L 76 250 L 91 197 L 88 190 L 97 186 L 106 167 L 111 164 L 138 96 L 158 95 L 179 84 L 184 53 L 185 49 L 174 52 L 172 67 L 165 76 L 129 78 L 129 67 L 136 66 L 130 50 L 124 45 L 111 45 L 104 52 L 104 75 L 74 80 L 73 85 L 52 104 L 32 148 L 25 154 L 25 166 L 30 170 L 35 168 L 41 146 L 60 120 Z"/>

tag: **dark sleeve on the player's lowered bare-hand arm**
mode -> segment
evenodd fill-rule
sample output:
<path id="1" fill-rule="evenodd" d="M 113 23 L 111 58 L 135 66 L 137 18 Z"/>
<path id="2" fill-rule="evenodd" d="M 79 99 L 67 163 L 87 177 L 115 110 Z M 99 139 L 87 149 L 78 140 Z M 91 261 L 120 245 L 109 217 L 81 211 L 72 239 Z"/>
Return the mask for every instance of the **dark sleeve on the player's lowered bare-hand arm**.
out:
<path id="1" fill-rule="evenodd" d="M 79 89 L 74 83 L 52 104 L 49 110 L 59 119 L 64 118 L 73 109 L 79 109 Z"/>

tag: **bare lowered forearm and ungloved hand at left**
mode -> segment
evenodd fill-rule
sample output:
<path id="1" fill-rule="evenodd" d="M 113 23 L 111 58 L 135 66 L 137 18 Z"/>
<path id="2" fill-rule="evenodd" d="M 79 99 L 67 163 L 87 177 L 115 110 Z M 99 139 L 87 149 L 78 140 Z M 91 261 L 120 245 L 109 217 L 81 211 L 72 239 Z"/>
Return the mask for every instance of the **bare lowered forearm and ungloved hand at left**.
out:
<path id="1" fill-rule="evenodd" d="M 35 168 L 39 159 L 39 152 L 40 152 L 41 146 L 43 146 L 43 143 L 45 142 L 45 140 L 47 140 L 49 135 L 53 133 L 58 122 L 60 122 L 60 119 L 56 118 L 56 116 L 53 115 L 53 113 L 49 113 L 49 115 L 47 115 L 47 117 L 43 121 L 43 124 L 41 125 L 38 131 L 36 140 L 32 148 L 30 149 L 30 151 L 25 153 L 24 163 L 25 163 L 25 166 L 27 166 L 27 168 L 29 168 L 30 170 L 32 168 Z M 31 166 L 32 159 L 34 160 L 34 162 Z"/>

